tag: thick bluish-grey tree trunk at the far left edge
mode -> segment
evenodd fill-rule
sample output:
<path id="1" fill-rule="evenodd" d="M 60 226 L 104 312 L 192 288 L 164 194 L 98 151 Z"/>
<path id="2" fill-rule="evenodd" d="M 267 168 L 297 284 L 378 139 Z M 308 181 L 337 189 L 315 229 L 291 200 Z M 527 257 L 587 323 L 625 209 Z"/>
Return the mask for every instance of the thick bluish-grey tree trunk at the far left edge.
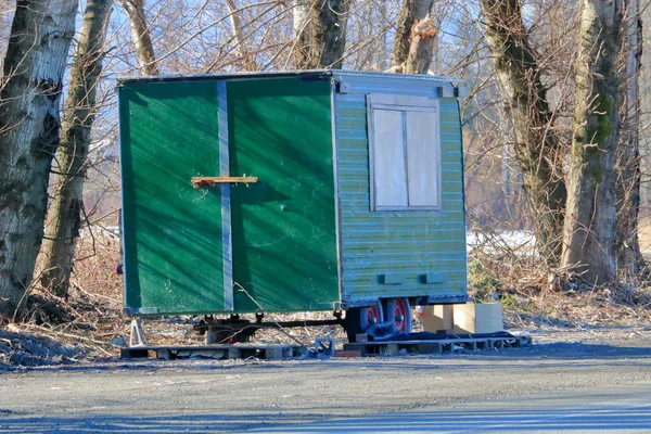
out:
<path id="1" fill-rule="evenodd" d="M 42 241 L 76 0 L 17 2 L 0 84 L 0 315 L 25 299 Z"/>

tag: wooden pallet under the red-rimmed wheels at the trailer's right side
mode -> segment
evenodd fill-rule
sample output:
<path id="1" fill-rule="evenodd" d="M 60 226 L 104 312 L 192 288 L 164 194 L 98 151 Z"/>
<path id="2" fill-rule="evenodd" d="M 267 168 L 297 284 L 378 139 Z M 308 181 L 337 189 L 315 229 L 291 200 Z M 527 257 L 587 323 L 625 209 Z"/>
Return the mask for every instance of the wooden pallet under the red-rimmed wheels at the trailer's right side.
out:
<path id="1" fill-rule="evenodd" d="M 529 346 L 532 337 L 514 335 L 509 337 L 470 337 L 445 339 L 435 341 L 385 341 L 344 344 L 344 350 L 358 350 L 362 356 L 407 354 L 442 354 L 456 349 L 475 352 L 477 349 L 494 349 Z"/>

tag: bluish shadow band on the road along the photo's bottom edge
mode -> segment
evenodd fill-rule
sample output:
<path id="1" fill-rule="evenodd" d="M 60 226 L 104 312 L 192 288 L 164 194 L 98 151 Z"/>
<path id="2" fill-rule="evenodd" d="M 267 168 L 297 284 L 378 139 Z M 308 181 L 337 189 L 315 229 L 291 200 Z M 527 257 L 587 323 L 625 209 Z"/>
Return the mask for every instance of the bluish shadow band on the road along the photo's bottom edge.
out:
<path id="1" fill-rule="evenodd" d="M 441 409 L 346 417 L 322 413 L 246 416 L 80 416 L 24 418 L 0 410 L 0 433 L 395 433 L 614 432 L 651 430 L 651 405 L 540 410 Z"/>

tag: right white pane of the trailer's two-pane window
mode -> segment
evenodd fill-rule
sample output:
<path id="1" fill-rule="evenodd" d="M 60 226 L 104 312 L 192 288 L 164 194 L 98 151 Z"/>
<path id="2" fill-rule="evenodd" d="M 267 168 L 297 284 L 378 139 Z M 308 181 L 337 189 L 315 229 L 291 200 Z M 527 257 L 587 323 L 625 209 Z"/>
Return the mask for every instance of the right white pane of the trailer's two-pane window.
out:
<path id="1" fill-rule="evenodd" d="M 409 206 L 438 205 L 438 123 L 431 112 L 407 113 Z"/>

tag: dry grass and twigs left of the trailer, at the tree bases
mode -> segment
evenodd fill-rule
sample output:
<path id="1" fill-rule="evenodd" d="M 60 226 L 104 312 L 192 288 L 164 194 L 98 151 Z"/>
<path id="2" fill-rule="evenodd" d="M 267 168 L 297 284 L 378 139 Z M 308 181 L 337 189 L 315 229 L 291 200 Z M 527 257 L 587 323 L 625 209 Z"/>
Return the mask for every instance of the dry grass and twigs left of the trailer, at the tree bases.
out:
<path id="1" fill-rule="evenodd" d="M 53 360 L 117 356 L 119 348 L 113 341 L 128 336 L 129 331 L 129 320 L 120 312 L 122 277 L 114 272 L 118 257 L 117 239 L 84 239 L 77 252 L 79 260 L 75 265 L 69 297 L 62 299 L 42 288 L 30 289 L 30 302 L 25 312 L 27 320 L 9 324 L 3 330 L 12 345 L 10 350 L 0 348 L 0 366 L 2 362 L 48 365 Z M 67 318 L 52 315 L 52 306 L 60 307 Z M 29 341 L 39 342 L 39 345 L 31 347 Z"/>

